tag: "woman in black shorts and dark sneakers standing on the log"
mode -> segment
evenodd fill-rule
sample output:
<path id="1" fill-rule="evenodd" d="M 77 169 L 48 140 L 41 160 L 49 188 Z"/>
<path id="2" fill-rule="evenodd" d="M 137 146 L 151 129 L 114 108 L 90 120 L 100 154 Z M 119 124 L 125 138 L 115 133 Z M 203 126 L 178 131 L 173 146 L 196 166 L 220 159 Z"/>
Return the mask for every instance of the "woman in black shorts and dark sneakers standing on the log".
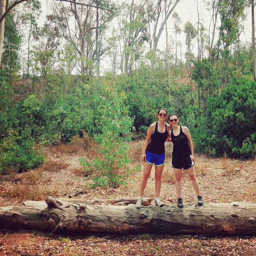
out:
<path id="1" fill-rule="evenodd" d="M 178 194 L 178 207 L 183 208 L 183 200 L 181 198 L 181 178 L 182 168 L 187 170 L 187 174 L 192 181 L 194 190 L 197 193 L 198 205 L 203 205 L 204 201 L 200 194 L 199 183 L 194 170 L 194 146 L 190 131 L 186 126 L 179 126 L 179 117 L 176 114 L 168 116 L 168 121 L 173 130 L 168 133 L 166 141 L 173 142 L 173 156 L 171 159 L 171 167 L 173 167 L 175 175 L 175 187 Z M 171 140 L 169 140 L 171 137 Z"/>

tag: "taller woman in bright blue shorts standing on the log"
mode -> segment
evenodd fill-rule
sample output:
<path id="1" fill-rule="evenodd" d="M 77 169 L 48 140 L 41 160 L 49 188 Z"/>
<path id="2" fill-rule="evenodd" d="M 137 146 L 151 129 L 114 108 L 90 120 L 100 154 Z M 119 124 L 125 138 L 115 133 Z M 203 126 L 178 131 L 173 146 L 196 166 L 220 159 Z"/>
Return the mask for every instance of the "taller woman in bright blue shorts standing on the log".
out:
<path id="1" fill-rule="evenodd" d="M 164 142 L 168 137 L 171 126 L 166 123 L 167 110 L 159 109 L 157 112 L 158 122 L 152 123 L 147 130 L 147 137 L 142 152 L 142 161 L 144 162 L 143 175 L 140 180 L 140 196 L 136 203 L 136 208 L 140 208 L 143 199 L 143 193 L 147 185 L 153 164 L 155 164 L 155 186 L 156 186 L 156 206 L 162 206 L 163 202 L 159 198 L 161 190 L 161 177 L 165 165 Z"/>

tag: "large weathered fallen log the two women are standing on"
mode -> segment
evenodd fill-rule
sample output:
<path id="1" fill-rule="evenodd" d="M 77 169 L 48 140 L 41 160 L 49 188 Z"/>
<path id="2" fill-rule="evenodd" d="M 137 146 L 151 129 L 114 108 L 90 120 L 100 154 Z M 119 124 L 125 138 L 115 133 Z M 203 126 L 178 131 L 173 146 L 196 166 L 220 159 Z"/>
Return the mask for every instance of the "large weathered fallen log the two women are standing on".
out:
<path id="1" fill-rule="evenodd" d="M 184 204 L 182 209 L 168 204 L 136 209 L 134 204 L 83 204 L 48 197 L 46 204 L 33 201 L 33 206 L 0 207 L 0 227 L 129 235 L 256 235 L 256 203 Z"/>

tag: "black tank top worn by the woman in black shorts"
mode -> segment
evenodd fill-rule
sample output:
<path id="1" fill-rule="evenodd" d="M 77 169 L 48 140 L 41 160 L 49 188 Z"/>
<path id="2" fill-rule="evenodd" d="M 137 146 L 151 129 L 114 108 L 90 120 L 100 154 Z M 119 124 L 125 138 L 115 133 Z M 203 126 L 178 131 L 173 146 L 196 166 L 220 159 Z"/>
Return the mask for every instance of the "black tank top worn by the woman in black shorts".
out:
<path id="1" fill-rule="evenodd" d="M 171 140 L 173 142 L 173 155 L 176 157 L 191 155 L 190 145 L 188 143 L 187 136 L 183 133 L 180 126 L 180 134 L 178 136 L 173 135 L 171 131 Z"/>

